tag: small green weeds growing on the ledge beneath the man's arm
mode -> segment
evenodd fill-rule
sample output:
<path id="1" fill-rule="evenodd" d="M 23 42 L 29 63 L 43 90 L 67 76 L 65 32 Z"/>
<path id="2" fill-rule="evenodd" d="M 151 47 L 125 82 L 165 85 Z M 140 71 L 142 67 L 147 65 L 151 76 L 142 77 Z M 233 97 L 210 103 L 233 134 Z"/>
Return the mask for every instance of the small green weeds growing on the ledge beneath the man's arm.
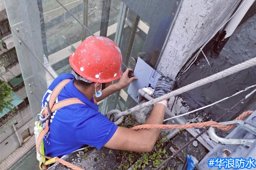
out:
<path id="1" fill-rule="evenodd" d="M 131 114 L 125 116 L 125 119 L 120 124 L 122 127 L 134 127 L 136 125 L 139 125 L 137 120 L 131 116 Z M 166 149 L 166 145 L 168 145 L 168 142 L 166 142 L 166 134 L 161 133 L 159 138 L 157 139 L 157 142 L 151 152 L 148 153 L 138 153 L 138 152 L 131 152 L 131 151 L 123 151 L 123 150 L 111 150 L 107 149 L 106 151 L 102 151 L 100 155 L 97 158 L 94 158 L 94 161 L 99 161 L 100 168 L 102 170 L 108 169 L 108 165 L 106 165 L 106 162 L 104 161 L 106 157 L 109 155 L 114 154 L 116 157 L 116 161 L 118 164 L 116 164 L 113 169 L 119 169 L 119 170 L 142 170 L 147 167 L 150 169 L 155 169 L 158 167 L 164 160 L 169 158 L 172 153 L 170 150 Z M 165 143 L 166 142 L 166 143 Z M 173 141 L 171 141 L 173 145 Z M 178 149 L 178 146 L 175 145 Z M 175 147 L 174 146 L 174 147 Z M 83 159 L 86 160 L 88 155 L 90 154 L 90 151 L 96 149 L 95 147 L 87 146 L 84 148 L 84 156 Z M 104 153 L 103 153 L 104 152 Z M 183 156 L 186 158 L 186 154 L 183 153 Z M 176 163 L 180 164 L 181 161 L 174 157 L 176 159 Z M 175 166 L 175 165 L 174 165 Z M 161 168 L 161 170 L 174 170 L 172 168 L 172 164 L 166 163 L 165 166 Z"/>

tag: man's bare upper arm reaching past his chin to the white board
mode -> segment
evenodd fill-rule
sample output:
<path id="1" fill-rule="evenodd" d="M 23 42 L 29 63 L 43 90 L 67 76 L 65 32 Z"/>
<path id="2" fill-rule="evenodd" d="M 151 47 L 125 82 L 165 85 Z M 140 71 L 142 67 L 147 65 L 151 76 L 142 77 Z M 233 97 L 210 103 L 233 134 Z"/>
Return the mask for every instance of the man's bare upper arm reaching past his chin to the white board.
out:
<path id="1" fill-rule="evenodd" d="M 111 94 L 115 93 L 116 91 L 119 91 L 122 88 L 127 87 L 133 80 L 136 79 L 137 77 L 133 77 L 133 70 L 131 68 L 127 68 L 118 83 L 109 85 L 102 91 L 102 95 L 100 97 L 96 97 L 94 94 L 93 98 L 96 99 L 97 102 L 99 102 L 105 99 L 106 97 L 110 96 Z"/>

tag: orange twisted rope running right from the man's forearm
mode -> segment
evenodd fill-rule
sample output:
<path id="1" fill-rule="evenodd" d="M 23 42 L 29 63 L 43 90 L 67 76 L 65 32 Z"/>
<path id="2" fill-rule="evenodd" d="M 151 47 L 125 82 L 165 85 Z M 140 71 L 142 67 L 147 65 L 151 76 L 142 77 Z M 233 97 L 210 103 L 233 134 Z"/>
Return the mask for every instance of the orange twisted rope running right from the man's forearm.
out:
<path id="1" fill-rule="evenodd" d="M 253 111 L 246 111 L 242 113 L 240 116 L 238 116 L 235 120 L 242 120 L 245 117 L 249 116 L 252 114 Z M 189 123 L 185 125 L 138 125 L 134 126 L 131 129 L 132 130 L 139 130 L 139 129 L 190 129 L 190 128 L 202 128 L 202 127 L 217 127 L 218 129 L 221 130 L 230 130 L 232 129 L 235 125 L 221 125 L 220 123 L 214 122 L 214 121 L 209 121 L 209 122 L 201 122 L 201 123 Z"/>

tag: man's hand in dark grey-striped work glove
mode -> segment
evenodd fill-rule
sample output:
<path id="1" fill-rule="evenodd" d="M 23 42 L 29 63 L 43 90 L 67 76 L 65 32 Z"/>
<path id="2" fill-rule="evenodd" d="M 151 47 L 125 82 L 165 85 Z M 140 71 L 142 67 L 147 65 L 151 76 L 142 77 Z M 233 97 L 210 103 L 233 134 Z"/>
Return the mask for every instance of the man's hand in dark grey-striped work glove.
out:
<path id="1" fill-rule="evenodd" d="M 157 81 L 156 88 L 154 89 L 154 98 L 170 93 L 173 85 L 174 82 L 171 78 L 161 76 Z"/>

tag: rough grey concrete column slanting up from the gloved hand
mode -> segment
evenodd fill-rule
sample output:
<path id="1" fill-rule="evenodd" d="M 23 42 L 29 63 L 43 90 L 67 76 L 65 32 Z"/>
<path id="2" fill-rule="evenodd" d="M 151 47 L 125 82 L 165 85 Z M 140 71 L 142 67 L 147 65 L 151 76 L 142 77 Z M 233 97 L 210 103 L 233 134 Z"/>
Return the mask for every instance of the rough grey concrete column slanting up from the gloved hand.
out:
<path id="1" fill-rule="evenodd" d="M 233 14 L 240 0 L 183 0 L 157 71 L 175 79 L 177 73 Z"/>

